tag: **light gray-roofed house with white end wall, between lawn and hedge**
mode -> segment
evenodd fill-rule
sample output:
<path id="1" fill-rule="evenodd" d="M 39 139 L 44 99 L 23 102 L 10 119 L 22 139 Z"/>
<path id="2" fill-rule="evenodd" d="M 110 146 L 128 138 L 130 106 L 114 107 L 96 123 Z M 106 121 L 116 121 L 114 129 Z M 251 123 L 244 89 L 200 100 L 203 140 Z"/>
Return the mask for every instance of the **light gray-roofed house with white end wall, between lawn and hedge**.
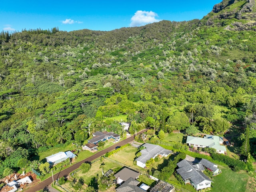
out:
<path id="1" fill-rule="evenodd" d="M 144 168 L 146 167 L 146 162 L 150 160 L 150 158 L 155 158 L 156 156 L 164 156 L 167 157 L 172 151 L 162 148 L 159 145 L 154 145 L 150 143 L 145 143 L 142 146 L 145 147 L 145 149 L 142 149 L 141 156 L 136 158 L 137 165 Z"/>

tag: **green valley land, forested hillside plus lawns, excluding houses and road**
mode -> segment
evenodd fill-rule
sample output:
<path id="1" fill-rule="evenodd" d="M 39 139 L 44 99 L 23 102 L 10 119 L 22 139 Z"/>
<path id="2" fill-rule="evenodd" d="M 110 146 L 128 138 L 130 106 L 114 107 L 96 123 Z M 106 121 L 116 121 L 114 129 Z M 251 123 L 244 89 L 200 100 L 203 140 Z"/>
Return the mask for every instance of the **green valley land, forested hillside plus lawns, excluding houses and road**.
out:
<path id="1" fill-rule="evenodd" d="M 120 137 L 98 142 L 96 152 L 83 150 L 95 132 Z M 225 152 L 187 142 L 204 136 L 222 138 Z M 207 190 L 256 190 L 255 0 L 223 0 L 201 20 L 0 32 L 0 190 L 15 174 L 34 171 L 37 183 L 130 137 L 56 189 L 118 191 L 112 180 L 126 166 L 150 187 L 156 181 L 149 175 L 195 192 L 176 171 L 187 156 L 221 170 L 213 176 L 206 168 Z M 172 152 L 142 168 L 135 159 L 144 143 Z M 67 151 L 76 157 L 54 166 L 46 161 Z M 102 176 L 110 169 L 113 178 Z"/>

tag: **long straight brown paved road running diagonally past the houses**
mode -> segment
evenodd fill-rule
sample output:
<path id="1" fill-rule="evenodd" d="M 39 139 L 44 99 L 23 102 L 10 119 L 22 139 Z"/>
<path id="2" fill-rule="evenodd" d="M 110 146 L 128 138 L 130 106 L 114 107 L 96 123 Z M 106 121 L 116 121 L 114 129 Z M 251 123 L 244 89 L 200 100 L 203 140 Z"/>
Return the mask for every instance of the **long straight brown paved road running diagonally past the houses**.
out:
<path id="1" fill-rule="evenodd" d="M 145 132 L 145 131 L 146 131 L 146 130 L 143 130 L 143 131 L 139 132 L 138 134 L 141 134 L 142 132 Z M 62 177 L 62 176 L 68 176 L 68 175 L 70 174 L 70 172 L 72 172 L 72 171 L 78 169 L 82 163 L 88 162 L 88 161 L 89 161 L 89 162 L 90 162 L 90 161 L 93 161 L 94 159 L 99 158 L 100 156 L 103 156 L 104 154 L 106 154 L 106 152 L 110 152 L 110 151 L 114 150 L 114 149 L 116 148 L 116 146 L 122 146 L 122 145 L 124 145 L 124 144 L 127 144 L 127 143 L 133 141 L 133 140 L 134 140 L 134 137 L 131 136 L 131 137 L 125 139 L 125 140 L 122 140 L 122 141 L 120 141 L 120 142 L 114 144 L 113 146 L 110 146 L 109 148 L 106 148 L 106 149 L 104 149 L 104 150 L 102 150 L 102 151 L 100 151 L 100 152 L 94 154 L 93 156 L 90 156 L 90 157 L 88 157 L 88 158 L 86 158 L 86 159 L 84 159 L 84 160 L 82 160 L 82 161 L 80 161 L 80 162 L 78 162 L 78 163 L 72 165 L 72 166 L 69 167 L 69 168 L 66 168 L 65 170 L 63 170 L 63 171 L 61 171 L 61 172 L 59 172 L 59 173 L 57 173 L 57 174 L 55 174 L 55 175 L 53 176 L 54 181 L 55 181 L 57 178 L 60 178 L 60 177 Z M 46 186 L 50 185 L 51 183 L 52 183 L 52 177 L 50 177 L 50 178 L 48 178 L 48 179 L 46 179 L 46 180 L 44 180 L 44 181 L 42 181 L 42 182 L 40 182 L 40 183 L 34 185 L 34 186 L 32 186 L 32 187 L 30 187 L 30 188 L 28 188 L 28 189 L 24 189 L 24 190 L 25 190 L 26 192 L 36 192 L 36 191 L 38 191 L 38 190 L 41 190 L 41 189 L 45 188 Z"/>

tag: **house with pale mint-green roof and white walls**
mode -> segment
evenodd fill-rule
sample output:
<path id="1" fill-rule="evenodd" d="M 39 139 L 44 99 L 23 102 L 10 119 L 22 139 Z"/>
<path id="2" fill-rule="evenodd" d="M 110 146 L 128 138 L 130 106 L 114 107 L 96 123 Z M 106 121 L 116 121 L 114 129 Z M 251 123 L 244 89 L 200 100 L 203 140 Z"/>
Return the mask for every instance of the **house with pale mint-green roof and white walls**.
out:
<path id="1" fill-rule="evenodd" d="M 189 146 L 194 147 L 210 147 L 216 149 L 217 153 L 225 154 L 226 147 L 223 145 L 220 145 L 223 143 L 223 138 L 215 135 L 206 135 L 204 138 L 201 137 L 194 137 L 194 136 L 188 136 L 186 143 Z"/>

